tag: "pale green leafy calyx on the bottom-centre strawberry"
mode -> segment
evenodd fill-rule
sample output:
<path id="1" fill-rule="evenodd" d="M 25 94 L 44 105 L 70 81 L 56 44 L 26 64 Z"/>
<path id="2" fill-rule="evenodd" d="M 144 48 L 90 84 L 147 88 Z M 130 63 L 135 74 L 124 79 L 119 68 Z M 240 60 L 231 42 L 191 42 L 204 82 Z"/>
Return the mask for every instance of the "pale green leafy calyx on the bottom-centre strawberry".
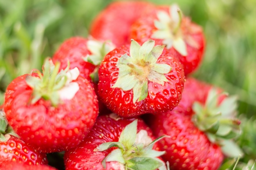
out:
<path id="1" fill-rule="evenodd" d="M 153 150 L 153 145 L 163 137 L 159 137 L 154 141 L 148 140 L 149 144 L 145 144 L 146 142 L 140 142 L 139 133 L 137 133 L 136 119 L 124 128 L 118 142 L 103 143 L 95 148 L 94 151 L 105 151 L 111 147 L 117 147 L 103 159 L 103 167 L 106 168 L 106 162 L 117 161 L 124 165 L 125 170 L 155 170 L 157 168 L 166 170 L 165 163 L 157 158 L 164 155 L 165 151 Z"/>

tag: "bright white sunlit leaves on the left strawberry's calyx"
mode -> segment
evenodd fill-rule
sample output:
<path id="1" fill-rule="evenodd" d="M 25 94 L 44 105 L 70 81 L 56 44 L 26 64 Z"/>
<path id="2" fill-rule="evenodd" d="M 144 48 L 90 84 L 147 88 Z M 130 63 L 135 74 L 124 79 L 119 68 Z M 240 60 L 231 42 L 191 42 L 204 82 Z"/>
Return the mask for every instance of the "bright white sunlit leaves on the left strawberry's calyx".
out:
<path id="1" fill-rule="evenodd" d="M 58 91 L 58 94 L 62 100 L 64 99 L 72 99 L 76 92 L 79 91 L 79 85 L 77 82 L 72 82 L 76 80 L 79 76 L 79 69 L 77 67 L 67 71 L 67 82 L 63 88 Z"/>

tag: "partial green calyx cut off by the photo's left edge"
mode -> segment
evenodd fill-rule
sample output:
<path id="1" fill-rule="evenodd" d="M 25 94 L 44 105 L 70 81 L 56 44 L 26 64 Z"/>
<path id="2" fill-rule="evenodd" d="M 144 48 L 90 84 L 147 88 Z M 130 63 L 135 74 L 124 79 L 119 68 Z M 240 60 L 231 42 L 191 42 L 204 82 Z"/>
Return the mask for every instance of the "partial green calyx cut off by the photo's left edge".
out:
<path id="1" fill-rule="evenodd" d="M 0 110 L 0 141 L 7 141 L 10 138 L 10 135 L 12 136 L 16 136 L 19 137 L 11 128 L 11 126 L 9 126 L 5 113 L 4 111 L 1 109 Z"/>

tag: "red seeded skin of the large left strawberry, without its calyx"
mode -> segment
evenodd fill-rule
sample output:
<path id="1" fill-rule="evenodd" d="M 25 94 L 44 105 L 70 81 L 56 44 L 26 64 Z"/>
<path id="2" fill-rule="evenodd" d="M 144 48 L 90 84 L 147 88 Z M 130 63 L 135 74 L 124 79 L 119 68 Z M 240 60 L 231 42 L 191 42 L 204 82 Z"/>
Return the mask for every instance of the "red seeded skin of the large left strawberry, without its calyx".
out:
<path id="1" fill-rule="evenodd" d="M 41 152 L 60 152 L 75 147 L 87 135 L 98 115 L 97 96 L 84 77 L 73 82 L 79 91 L 70 100 L 53 107 L 49 100 L 30 104 L 32 89 L 21 75 L 6 90 L 4 112 L 23 141 Z M 37 76 L 33 73 L 32 76 Z"/>

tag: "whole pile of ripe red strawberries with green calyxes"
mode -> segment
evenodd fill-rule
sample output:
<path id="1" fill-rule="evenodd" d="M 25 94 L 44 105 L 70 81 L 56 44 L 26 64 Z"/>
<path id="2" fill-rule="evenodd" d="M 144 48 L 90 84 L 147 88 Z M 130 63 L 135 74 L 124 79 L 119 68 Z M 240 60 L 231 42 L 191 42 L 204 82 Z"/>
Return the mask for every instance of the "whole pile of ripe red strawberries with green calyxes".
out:
<path id="1" fill-rule="evenodd" d="M 9 84 L 0 169 L 56 170 L 55 153 L 66 170 L 218 170 L 242 155 L 240 121 L 235 96 L 191 76 L 204 49 L 176 4 L 112 2 Z"/>

